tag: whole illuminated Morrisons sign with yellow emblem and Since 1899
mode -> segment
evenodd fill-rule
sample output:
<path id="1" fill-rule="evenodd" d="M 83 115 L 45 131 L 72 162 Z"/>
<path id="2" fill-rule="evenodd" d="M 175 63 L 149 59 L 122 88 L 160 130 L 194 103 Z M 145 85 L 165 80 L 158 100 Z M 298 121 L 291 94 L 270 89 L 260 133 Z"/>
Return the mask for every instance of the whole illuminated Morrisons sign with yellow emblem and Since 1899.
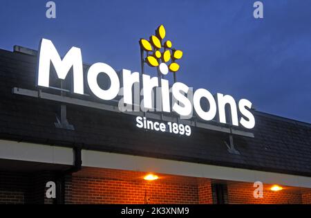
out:
<path id="1" fill-rule="evenodd" d="M 159 26 L 155 35 L 149 40 L 140 39 L 142 72 L 132 72 L 122 69 L 120 75 L 109 64 L 98 62 L 92 64 L 87 71 L 84 81 L 82 52 L 80 48 L 72 47 L 64 58 L 59 56 L 53 42 L 41 39 L 39 46 L 39 63 L 37 68 L 37 86 L 50 87 L 50 64 L 53 64 L 58 80 L 65 80 L 70 69 L 73 69 L 73 93 L 84 95 L 84 85 L 87 82 L 91 92 L 100 100 L 109 101 L 121 96 L 121 111 L 129 109 L 129 105 L 139 105 L 140 111 L 154 110 L 165 113 L 176 112 L 181 119 L 190 119 L 195 113 L 202 120 L 217 120 L 238 127 L 239 125 L 252 129 L 255 119 L 252 114 L 252 102 L 241 99 L 236 102 L 232 96 L 216 93 L 212 95 L 207 89 L 196 89 L 182 82 L 176 82 L 176 72 L 180 69 L 178 61 L 182 51 L 173 48 L 172 42 L 164 40 L 164 26 Z M 158 77 L 151 77 L 144 72 L 144 64 L 148 64 L 158 72 Z M 174 75 L 170 86 L 169 80 L 164 79 L 169 72 Z M 109 88 L 102 89 L 97 77 L 100 73 L 109 80 Z M 133 91 L 138 87 L 138 92 Z M 155 94 L 156 92 L 156 94 Z M 156 99 L 155 99 L 156 96 Z M 138 103 L 137 100 L 138 99 Z M 202 105 L 203 100 L 205 105 Z M 229 107 L 227 107 L 229 106 Z M 133 109 L 132 107 L 130 107 Z M 229 111 L 227 110 L 229 108 Z M 227 118 L 226 118 L 227 116 Z M 187 125 L 179 127 L 171 123 L 150 123 L 144 117 L 137 117 L 137 127 L 186 134 L 191 130 Z"/>

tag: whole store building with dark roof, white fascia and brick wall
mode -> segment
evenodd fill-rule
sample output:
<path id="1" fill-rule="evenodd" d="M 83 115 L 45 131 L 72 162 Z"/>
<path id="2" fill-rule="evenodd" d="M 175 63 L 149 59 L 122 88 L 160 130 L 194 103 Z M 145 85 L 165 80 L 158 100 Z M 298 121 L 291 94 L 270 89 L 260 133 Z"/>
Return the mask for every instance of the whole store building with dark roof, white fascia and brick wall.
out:
<path id="1" fill-rule="evenodd" d="M 187 137 L 139 129 L 53 73 L 62 89 L 36 87 L 37 61 L 0 50 L 0 203 L 311 203 L 310 124 L 254 110 L 252 131 L 196 120 Z"/>

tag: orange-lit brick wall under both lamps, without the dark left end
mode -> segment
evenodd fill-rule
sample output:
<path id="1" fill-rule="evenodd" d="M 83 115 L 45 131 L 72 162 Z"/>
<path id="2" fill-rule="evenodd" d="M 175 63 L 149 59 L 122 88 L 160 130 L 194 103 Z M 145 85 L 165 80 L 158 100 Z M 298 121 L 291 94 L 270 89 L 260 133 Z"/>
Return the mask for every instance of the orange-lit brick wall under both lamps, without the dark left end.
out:
<path id="1" fill-rule="evenodd" d="M 145 172 L 84 167 L 66 178 L 66 203 L 216 203 L 210 179 L 160 174 L 144 181 Z M 228 182 L 225 203 L 310 203 L 311 192 L 299 188 L 280 192 L 265 185 L 263 199 L 255 199 L 252 183 Z M 214 194 L 214 195 L 213 195 Z M 213 199 L 214 196 L 214 199 Z"/>

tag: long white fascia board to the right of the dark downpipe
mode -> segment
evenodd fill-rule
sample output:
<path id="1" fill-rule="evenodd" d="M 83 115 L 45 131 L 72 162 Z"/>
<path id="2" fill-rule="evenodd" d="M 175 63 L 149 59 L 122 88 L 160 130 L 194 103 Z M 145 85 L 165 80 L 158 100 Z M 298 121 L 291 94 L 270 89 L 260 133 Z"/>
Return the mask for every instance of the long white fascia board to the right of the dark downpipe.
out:
<path id="1" fill-rule="evenodd" d="M 82 166 L 311 188 L 311 177 L 82 150 Z"/>

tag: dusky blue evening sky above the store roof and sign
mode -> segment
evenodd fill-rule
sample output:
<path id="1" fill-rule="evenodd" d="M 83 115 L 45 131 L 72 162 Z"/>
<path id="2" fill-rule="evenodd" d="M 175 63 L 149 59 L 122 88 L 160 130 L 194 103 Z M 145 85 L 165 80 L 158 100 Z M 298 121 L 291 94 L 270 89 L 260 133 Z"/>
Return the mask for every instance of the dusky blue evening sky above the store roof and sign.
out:
<path id="1" fill-rule="evenodd" d="M 0 48 L 37 50 L 44 37 L 61 55 L 77 46 L 85 63 L 140 71 L 138 41 L 163 24 L 184 52 L 179 82 L 311 122 L 309 0 L 262 1 L 263 19 L 253 17 L 254 0 L 55 1 L 56 19 L 46 2 L 1 0 Z"/>

